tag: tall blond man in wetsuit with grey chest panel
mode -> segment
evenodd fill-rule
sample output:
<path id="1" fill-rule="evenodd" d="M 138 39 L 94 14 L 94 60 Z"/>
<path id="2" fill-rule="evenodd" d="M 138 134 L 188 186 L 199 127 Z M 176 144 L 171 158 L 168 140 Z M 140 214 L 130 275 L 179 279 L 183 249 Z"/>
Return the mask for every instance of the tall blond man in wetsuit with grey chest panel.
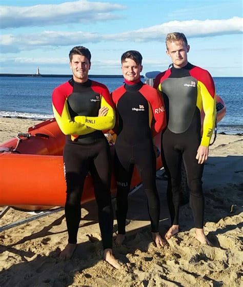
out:
<path id="1" fill-rule="evenodd" d="M 171 215 L 171 228 L 166 233 L 170 239 L 179 231 L 179 204 L 181 161 L 187 172 L 190 190 L 190 206 L 193 212 L 196 239 L 211 244 L 204 233 L 204 195 L 202 172 L 208 158 L 209 142 L 216 116 L 214 82 L 208 71 L 196 67 L 187 60 L 190 46 L 183 33 L 170 33 L 166 37 L 167 54 L 171 57 L 171 69 L 160 73 L 154 83 L 164 96 L 167 129 L 162 134 L 161 155 L 168 174 L 167 199 Z M 204 110 L 201 136 L 200 111 Z"/>

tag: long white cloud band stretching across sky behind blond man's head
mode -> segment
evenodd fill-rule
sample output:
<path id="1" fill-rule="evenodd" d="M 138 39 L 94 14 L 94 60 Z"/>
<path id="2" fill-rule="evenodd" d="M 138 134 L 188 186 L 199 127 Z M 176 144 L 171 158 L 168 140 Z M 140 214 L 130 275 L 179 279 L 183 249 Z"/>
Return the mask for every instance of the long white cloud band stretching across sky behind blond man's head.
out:
<path id="1" fill-rule="evenodd" d="M 225 34 L 242 33 L 242 18 L 233 17 L 223 20 L 190 20 L 172 21 L 161 25 L 152 26 L 117 34 L 98 34 L 89 32 L 62 32 L 44 31 L 40 33 L 0 36 L 0 47 L 2 52 L 16 52 L 31 50 L 44 46 L 75 46 L 80 43 L 98 43 L 101 41 L 129 41 L 129 42 L 150 42 L 165 40 L 170 32 L 184 32 L 187 37 L 206 37 Z"/>

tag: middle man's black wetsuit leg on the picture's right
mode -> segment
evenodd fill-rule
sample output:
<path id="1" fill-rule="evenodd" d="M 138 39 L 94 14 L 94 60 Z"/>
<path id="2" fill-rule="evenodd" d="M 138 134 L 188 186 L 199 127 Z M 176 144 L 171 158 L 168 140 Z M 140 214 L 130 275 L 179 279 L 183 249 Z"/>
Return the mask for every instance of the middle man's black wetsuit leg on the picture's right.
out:
<path id="1" fill-rule="evenodd" d="M 158 232 L 160 200 L 156 188 L 156 157 L 152 140 L 144 141 L 139 147 L 133 147 L 133 153 L 147 195 L 151 231 Z"/>

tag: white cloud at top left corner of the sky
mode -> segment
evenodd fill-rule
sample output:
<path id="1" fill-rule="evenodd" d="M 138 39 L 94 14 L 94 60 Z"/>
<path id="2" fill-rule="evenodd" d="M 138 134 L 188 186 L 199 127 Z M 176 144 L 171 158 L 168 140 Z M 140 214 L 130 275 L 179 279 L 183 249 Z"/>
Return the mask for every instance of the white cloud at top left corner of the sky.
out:
<path id="1" fill-rule="evenodd" d="M 113 3 L 79 0 L 62 4 L 35 6 L 0 6 L 0 28 L 85 23 L 119 18 L 111 11 L 125 9 Z"/>

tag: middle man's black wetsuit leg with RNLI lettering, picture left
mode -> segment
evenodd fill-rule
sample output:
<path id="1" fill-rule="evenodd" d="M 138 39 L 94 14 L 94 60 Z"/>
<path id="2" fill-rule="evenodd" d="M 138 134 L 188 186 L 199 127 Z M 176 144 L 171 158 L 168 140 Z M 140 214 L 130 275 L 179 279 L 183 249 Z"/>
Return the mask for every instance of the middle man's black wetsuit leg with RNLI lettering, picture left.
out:
<path id="1" fill-rule="evenodd" d="M 118 234 L 125 234 L 126 218 L 128 212 L 128 193 L 130 191 L 131 178 L 134 165 L 131 163 L 131 148 L 120 149 L 116 145 L 114 166 L 117 182 L 116 193 L 116 219 L 118 226 Z"/>

